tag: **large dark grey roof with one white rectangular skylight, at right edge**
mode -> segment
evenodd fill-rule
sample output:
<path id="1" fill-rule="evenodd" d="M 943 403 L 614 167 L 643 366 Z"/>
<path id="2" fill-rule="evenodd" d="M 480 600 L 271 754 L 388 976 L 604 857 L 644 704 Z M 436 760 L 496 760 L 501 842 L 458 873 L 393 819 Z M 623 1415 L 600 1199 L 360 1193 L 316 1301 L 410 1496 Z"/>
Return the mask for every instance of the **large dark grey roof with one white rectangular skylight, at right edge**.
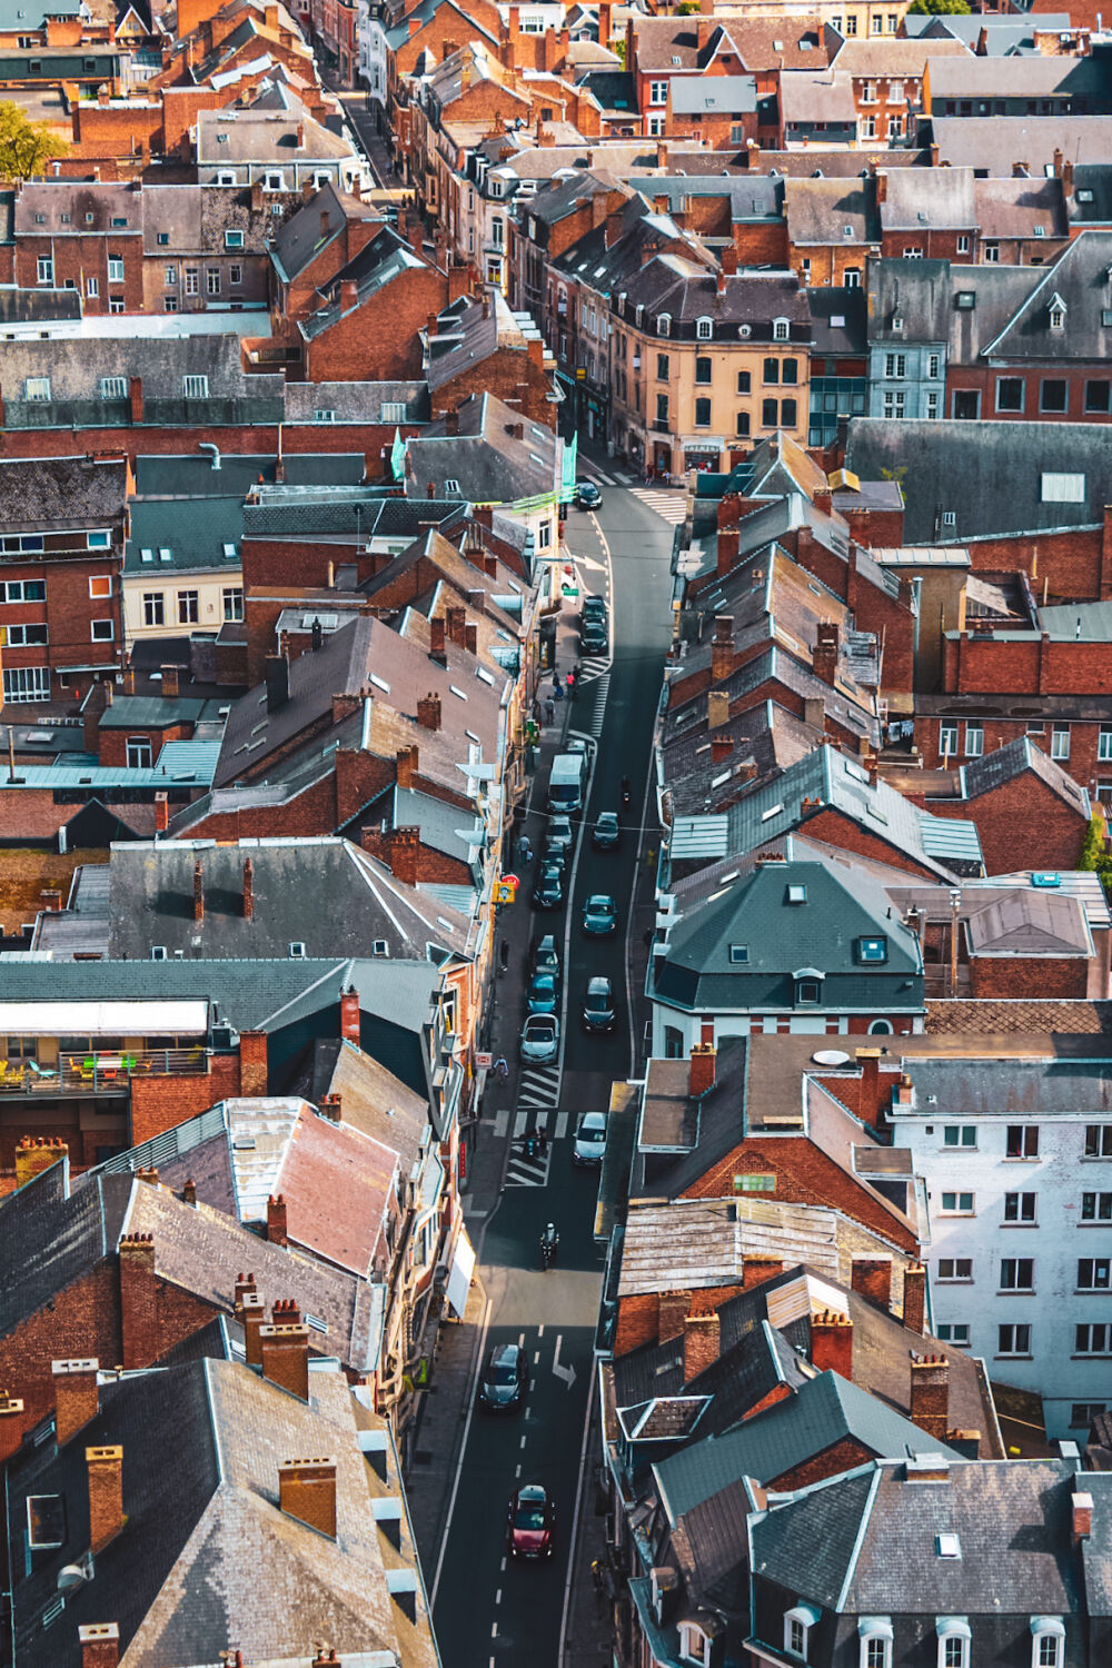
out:
<path id="1" fill-rule="evenodd" d="M 862 479 L 902 470 L 907 544 L 960 544 L 980 535 L 1092 527 L 1112 502 L 1112 449 L 1102 424 L 977 424 L 977 445 L 962 422 L 902 424 L 854 417 L 845 467 Z M 1080 502 L 1042 494 L 1044 472 L 1080 477 Z M 954 527 L 942 527 L 954 512 Z"/>

